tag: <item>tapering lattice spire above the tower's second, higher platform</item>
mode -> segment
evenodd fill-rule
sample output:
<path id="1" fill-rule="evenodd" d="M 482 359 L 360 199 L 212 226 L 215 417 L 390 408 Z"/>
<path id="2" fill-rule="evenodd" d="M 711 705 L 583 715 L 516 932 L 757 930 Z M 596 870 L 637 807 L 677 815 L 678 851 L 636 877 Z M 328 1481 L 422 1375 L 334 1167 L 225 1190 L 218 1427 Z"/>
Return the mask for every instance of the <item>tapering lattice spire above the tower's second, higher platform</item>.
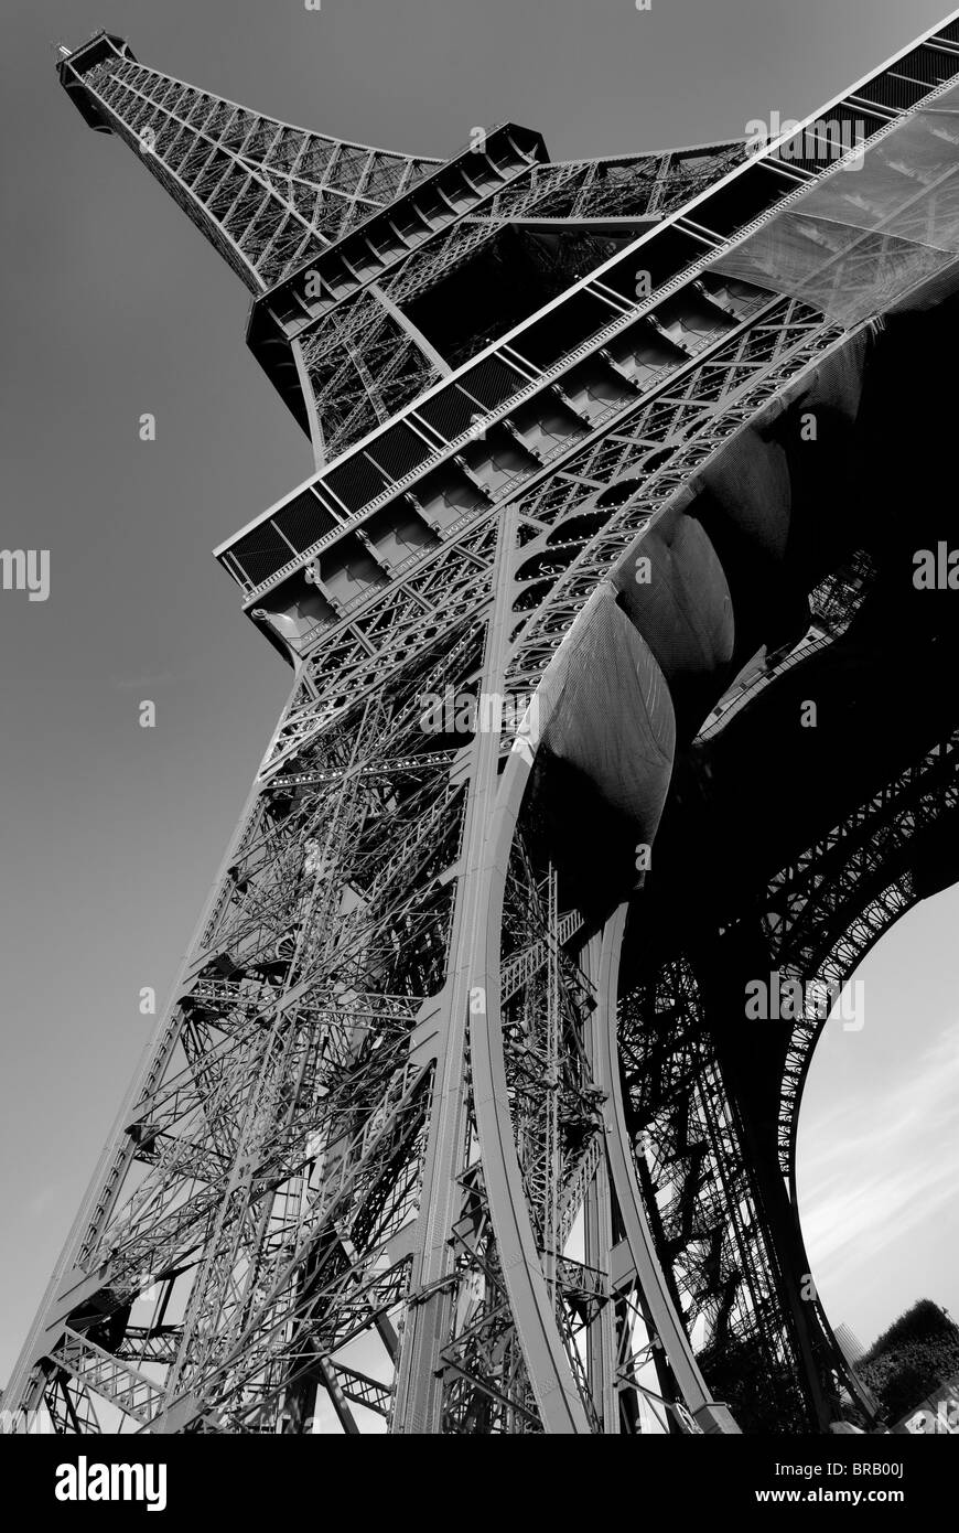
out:
<path id="1" fill-rule="evenodd" d="M 57 69 L 90 127 L 141 155 L 256 294 L 441 164 L 251 112 L 147 69 L 109 32 L 61 46 Z"/>

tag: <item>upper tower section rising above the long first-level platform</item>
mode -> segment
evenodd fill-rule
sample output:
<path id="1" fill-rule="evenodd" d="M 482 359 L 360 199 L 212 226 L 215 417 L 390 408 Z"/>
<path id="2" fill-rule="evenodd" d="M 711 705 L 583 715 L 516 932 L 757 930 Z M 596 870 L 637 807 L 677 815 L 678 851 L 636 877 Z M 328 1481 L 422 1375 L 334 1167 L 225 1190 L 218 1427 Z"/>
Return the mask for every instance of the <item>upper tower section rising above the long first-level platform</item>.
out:
<path id="1" fill-rule="evenodd" d="M 743 158 L 743 143 L 550 162 L 472 129 L 449 159 L 291 127 L 141 64 L 60 49 L 84 120 L 142 159 L 253 294 L 248 343 L 317 468 Z"/>

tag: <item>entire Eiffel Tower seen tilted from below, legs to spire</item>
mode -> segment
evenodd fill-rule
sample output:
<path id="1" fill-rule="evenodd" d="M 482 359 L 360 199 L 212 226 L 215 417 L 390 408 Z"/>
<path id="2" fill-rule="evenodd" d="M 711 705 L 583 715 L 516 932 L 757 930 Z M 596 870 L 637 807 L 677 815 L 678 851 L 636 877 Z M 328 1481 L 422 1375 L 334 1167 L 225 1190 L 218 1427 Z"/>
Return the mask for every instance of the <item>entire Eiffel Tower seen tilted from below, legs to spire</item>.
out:
<path id="1" fill-rule="evenodd" d="M 797 1118 L 823 995 L 959 878 L 957 17 L 780 133 L 565 162 L 60 49 L 316 469 L 216 550 L 293 690 L 8 1429 L 875 1421 Z"/>

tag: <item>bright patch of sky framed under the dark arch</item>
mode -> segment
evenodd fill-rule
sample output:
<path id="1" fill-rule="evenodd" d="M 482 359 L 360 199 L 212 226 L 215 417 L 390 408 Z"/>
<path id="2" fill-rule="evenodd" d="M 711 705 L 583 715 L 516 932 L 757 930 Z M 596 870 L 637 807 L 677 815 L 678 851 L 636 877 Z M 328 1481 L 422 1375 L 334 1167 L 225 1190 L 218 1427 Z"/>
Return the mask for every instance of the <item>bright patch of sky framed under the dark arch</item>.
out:
<path id="1" fill-rule="evenodd" d="M 916 1298 L 959 1320 L 957 918 L 953 888 L 866 957 L 862 1027 L 826 1024 L 800 1108 L 813 1280 L 833 1326 L 846 1320 L 866 1346 Z"/>

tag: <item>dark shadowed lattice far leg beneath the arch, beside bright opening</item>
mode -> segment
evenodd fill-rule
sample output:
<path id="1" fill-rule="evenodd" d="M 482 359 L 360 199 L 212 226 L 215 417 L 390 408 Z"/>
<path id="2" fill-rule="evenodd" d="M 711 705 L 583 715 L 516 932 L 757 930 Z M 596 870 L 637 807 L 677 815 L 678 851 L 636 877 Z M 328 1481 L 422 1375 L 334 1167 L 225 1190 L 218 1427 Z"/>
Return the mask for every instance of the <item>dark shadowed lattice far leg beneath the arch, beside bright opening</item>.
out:
<path id="1" fill-rule="evenodd" d="M 748 1429 L 806 1430 L 778 1252 L 685 957 L 624 998 L 619 1039 L 634 1171 L 700 1366 L 720 1390 L 735 1380 Z"/>

